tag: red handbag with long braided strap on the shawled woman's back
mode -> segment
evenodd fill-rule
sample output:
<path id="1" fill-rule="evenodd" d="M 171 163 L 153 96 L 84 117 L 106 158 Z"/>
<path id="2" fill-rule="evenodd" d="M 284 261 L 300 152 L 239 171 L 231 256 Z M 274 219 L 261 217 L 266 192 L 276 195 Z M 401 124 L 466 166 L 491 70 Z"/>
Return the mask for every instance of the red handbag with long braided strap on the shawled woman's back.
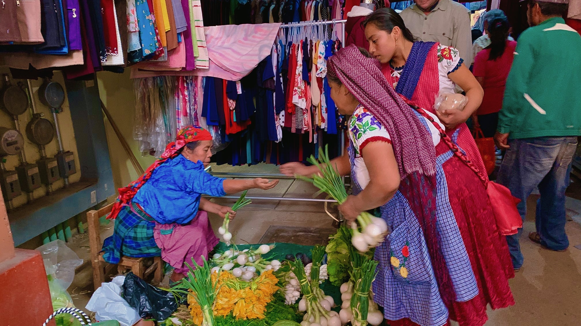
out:
<path id="1" fill-rule="evenodd" d="M 468 165 L 468 167 L 472 169 L 474 173 L 476 173 L 480 181 L 484 183 L 484 186 L 486 187 L 486 194 L 490 200 L 490 205 L 492 206 L 492 211 L 494 212 L 494 219 L 496 219 L 496 225 L 498 226 L 498 231 L 500 231 L 500 234 L 503 236 L 517 234 L 518 229 L 522 227 L 521 214 L 517 209 L 517 204 L 521 202 L 521 200 L 514 197 L 507 187 L 488 180 L 487 176 L 478 170 L 476 165 L 468 159 L 466 154 L 462 153 L 460 148 L 458 148 L 458 146 L 452 142 L 450 136 L 448 136 L 446 132 L 442 130 L 442 127 L 440 127 L 440 125 L 437 124 L 437 122 L 434 121 L 434 119 L 429 114 L 427 114 L 424 109 L 414 106 L 409 102 L 408 104 L 417 110 L 423 117 L 428 119 L 428 121 L 432 122 L 432 124 L 440 132 L 442 140 L 444 140 L 444 142 L 450 147 L 450 150 L 454 153 L 454 155 L 456 155 L 458 158 L 460 158 L 460 160 L 462 160 L 462 162 Z"/>

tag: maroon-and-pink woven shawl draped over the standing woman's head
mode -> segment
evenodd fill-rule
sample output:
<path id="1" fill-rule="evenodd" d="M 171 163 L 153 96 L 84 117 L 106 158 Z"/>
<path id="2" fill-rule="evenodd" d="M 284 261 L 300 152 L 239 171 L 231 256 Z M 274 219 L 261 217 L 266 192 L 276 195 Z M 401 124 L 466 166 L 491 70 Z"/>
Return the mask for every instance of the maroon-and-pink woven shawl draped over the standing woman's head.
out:
<path id="1" fill-rule="evenodd" d="M 388 131 L 402 180 L 399 191 L 422 227 L 440 295 L 451 304 L 453 287 L 436 231 L 436 150 L 428 129 L 389 85 L 379 61 L 364 56 L 357 46 L 330 57 L 327 74 L 338 77 Z"/>

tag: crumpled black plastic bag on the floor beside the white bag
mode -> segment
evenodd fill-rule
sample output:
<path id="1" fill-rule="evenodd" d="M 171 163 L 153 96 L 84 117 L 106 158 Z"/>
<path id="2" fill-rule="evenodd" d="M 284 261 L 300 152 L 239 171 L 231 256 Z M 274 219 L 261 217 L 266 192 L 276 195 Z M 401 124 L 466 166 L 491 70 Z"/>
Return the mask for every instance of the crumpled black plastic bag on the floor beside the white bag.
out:
<path id="1" fill-rule="evenodd" d="M 149 285 L 131 272 L 125 275 L 123 298 L 144 319 L 166 320 L 178 309 L 171 292 Z"/>

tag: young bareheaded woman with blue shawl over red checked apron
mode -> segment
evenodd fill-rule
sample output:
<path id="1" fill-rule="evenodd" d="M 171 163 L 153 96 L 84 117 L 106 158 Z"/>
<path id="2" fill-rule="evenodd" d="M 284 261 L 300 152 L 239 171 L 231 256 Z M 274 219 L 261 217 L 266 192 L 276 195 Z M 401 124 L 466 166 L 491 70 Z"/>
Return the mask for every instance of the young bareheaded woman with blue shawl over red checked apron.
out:
<path id="1" fill-rule="evenodd" d="M 462 53 L 436 42 L 416 41 L 400 15 L 390 8 L 371 13 L 363 22 L 369 52 L 381 62 L 389 84 L 404 99 L 435 113 L 450 137 L 481 171 L 485 171 L 474 137 L 465 122 L 482 103 L 484 91 L 461 59 Z M 468 103 L 464 110 L 433 108 L 439 93 L 456 93 L 460 86 Z"/>

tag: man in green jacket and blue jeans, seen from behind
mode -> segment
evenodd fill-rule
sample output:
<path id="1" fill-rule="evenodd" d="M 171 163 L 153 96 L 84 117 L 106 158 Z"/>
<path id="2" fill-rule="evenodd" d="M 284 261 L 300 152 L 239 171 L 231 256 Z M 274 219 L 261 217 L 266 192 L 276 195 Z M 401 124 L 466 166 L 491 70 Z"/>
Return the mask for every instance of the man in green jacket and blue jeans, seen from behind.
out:
<path id="1" fill-rule="evenodd" d="M 532 241 L 565 251 L 565 190 L 581 136 L 581 37 L 565 24 L 569 0 L 529 0 L 532 26 L 518 39 L 508 75 L 494 140 L 507 150 L 497 182 L 519 198 L 525 220 L 526 199 L 537 187 L 536 232 Z M 507 236 L 512 264 L 523 256 L 518 234 Z"/>

